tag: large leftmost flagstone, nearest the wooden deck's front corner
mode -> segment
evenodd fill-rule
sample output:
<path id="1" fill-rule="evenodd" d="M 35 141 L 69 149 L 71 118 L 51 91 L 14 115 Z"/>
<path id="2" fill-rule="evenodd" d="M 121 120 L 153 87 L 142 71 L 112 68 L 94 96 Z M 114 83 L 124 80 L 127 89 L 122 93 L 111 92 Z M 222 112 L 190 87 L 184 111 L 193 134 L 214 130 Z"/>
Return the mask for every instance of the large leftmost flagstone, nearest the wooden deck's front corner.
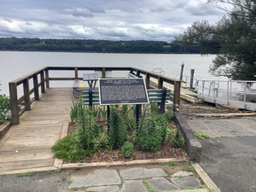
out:
<path id="1" fill-rule="evenodd" d="M 121 183 L 118 173 L 113 169 L 96 170 L 84 176 L 72 176 L 71 179 L 73 183 L 69 189 Z"/>

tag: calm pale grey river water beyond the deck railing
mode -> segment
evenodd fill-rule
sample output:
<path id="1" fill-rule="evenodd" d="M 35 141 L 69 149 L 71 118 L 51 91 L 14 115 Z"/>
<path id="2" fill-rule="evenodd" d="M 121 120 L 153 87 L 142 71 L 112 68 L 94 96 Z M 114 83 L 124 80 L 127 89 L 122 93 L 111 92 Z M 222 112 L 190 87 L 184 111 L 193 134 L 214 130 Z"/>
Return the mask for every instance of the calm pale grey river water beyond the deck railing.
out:
<path id="1" fill-rule="evenodd" d="M 195 79 L 229 80 L 208 73 L 216 55 L 179 55 L 179 54 L 102 54 L 66 52 L 24 52 L 0 51 L 0 94 L 9 96 L 9 82 L 41 67 L 137 67 L 147 71 L 161 68 L 165 76 L 179 79 L 181 64 L 183 75 L 190 76 L 195 69 Z M 79 72 L 79 77 L 82 77 Z M 112 77 L 126 77 L 127 72 L 113 72 Z M 49 77 L 74 77 L 73 71 L 50 71 Z M 30 81 L 32 88 L 32 79 Z M 50 81 L 50 87 L 72 87 L 72 81 Z M 18 96 L 23 95 L 22 85 L 18 86 Z M 238 88 L 240 89 L 240 88 Z M 241 88 L 242 89 L 242 88 Z"/>

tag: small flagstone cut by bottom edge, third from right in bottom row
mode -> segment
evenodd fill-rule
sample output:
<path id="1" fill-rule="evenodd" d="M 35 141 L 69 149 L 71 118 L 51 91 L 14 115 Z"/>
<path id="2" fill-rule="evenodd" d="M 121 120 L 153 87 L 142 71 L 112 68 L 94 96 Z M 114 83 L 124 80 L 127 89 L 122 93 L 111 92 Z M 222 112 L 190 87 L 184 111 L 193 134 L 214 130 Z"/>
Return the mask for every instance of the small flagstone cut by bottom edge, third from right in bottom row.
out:
<path id="1" fill-rule="evenodd" d="M 148 192 L 143 181 L 125 181 L 120 192 Z"/>

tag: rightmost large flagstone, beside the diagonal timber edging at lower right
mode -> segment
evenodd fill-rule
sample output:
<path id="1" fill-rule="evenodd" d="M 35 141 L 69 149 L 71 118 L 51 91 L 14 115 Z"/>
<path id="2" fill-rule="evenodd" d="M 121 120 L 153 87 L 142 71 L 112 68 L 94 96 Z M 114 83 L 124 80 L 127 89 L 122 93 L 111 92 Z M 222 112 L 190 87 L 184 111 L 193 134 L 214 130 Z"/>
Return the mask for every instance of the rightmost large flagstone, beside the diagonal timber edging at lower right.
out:
<path id="1" fill-rule="evenodd" d="M 200 180 L 197 177 L 183 177 L 183 178 L 171 178 L 172 183 L 181 187 L 182 189 L 193 187 L 197 188 L 201 186 Z"/>

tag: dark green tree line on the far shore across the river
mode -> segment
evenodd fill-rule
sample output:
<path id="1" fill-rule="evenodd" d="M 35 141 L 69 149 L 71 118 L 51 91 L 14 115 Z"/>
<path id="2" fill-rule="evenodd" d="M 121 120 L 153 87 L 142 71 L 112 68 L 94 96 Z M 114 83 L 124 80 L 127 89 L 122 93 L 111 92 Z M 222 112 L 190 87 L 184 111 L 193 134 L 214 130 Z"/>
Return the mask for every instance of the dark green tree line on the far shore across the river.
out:
<path id="1" fill-rule="evenodd" d="M 0 38 L 0 50 L 96 53 L 200 54 L 198 44 L 181 46 L 164 41 L 95 39 Z"/>

